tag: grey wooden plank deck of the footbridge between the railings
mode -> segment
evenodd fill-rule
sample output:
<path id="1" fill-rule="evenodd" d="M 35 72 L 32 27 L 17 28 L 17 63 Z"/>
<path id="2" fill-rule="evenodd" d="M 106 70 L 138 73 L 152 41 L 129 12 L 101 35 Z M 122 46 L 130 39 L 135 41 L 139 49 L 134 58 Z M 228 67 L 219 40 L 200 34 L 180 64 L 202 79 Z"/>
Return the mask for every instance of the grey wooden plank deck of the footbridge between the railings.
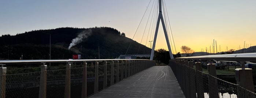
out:
<path id="1" fill-rule="evenodd" d="M 89 98 L 185 98 L 170 66 L 153 66 Z"/>

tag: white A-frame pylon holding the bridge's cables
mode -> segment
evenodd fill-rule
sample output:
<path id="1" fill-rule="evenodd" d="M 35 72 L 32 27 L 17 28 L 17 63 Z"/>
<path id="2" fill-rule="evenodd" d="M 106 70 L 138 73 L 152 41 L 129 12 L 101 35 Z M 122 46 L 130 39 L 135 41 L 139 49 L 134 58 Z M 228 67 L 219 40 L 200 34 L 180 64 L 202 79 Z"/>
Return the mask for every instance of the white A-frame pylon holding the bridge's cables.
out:
<path id="1" fill-rule="evenodd" d="M 163 25 L 164 35 L 165 35 L 165 39 L 166 39 L 166 42 L 167 42 L 169 54 L 170 54 L 171 59 L 173 59 L 172 52 L 171 52 L 171 47 L 170 47 L 170 43 L 169 43 L 167 31 L 166 31 L 166 27 L 165 27 L 165 24 L 164 24 L 164 18 L 163 18 L 163 14 L 162 14 L 162 0 L 159 0 L 159 15 L 158 15 L 158 19 L 157 19 L 156 32 L 155 32 L 155 37 L 154 37 L 154 41 L 153 41 L 153 47 L 152 47 L 152 50 L 151 50 L 150 60 L 153 60 L 153 56 L 154 56 L 154 52 L 155 52 L 155 45 L 156 45 L 156 37 L 157 37 L 157 32 L 158 32 L 160 20 L 161 20 L 162 25 Z"/>

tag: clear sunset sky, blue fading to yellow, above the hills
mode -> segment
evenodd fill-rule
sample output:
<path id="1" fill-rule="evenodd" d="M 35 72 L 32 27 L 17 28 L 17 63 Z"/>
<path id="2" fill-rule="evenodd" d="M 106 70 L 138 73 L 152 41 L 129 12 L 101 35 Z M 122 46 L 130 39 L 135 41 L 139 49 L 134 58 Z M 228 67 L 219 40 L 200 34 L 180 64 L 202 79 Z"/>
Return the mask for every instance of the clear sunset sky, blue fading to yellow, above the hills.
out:
<path id="1" fill-rule="evenodd" d="M 151 19 L 149 14 L 154 2 L 155 0 L 1 0 L 0 35 L 59 27 L 112 27 L 150 48 L 148 41 L 153 40 L 150 36 L 153 36 L 155 27 L 152 30 L 149 25 L 155 25 L 156 18 Z M 172 30 L 173 39 L 170 40 L 174 54 L 181 52 L 181 46 L 184 45 L 196 52 L 206 52 L 206 48 L 209 52 L 211 46 L 213 52 L 214 39 L 218 52 L 238 50 L 240 47 L 242 49 L 244 42 L 245 48 L 256 45 L 256 0 L 164 2 L 168 13 L 166 22 L 170 22 L 167 27 Z M 148 18 L 149 22 L 146 23 Z M 160 48 L 168 50 L 161 25 L 155 50 Z"/>

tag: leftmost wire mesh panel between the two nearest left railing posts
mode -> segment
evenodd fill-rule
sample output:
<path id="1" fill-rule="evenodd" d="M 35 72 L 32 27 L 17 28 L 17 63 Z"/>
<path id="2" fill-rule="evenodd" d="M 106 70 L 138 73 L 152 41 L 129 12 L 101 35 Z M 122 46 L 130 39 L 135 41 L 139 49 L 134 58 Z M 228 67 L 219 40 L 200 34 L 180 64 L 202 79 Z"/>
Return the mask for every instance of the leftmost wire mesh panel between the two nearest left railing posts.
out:
<path id="1" fill-rule="evenodd" d="M 6 75 L 6 98 L 36 98 L 39 95 L 40 72 Z"/>

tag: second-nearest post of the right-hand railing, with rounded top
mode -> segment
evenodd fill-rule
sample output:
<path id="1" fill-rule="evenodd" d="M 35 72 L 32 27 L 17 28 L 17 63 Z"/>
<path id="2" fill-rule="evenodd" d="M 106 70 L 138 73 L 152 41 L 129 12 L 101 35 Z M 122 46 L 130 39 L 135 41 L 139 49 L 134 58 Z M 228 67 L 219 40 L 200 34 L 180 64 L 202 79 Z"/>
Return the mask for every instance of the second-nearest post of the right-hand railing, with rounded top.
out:
<path id="1" fill-rule="evenodd" d="M 208 77 L 208 83 L 209 83 L 209 98 L 218 98 L 218 82 L 215 77 L 216 75 L 216 67 L 215 64 L 209 64 L 208 65 L 208 71 L 209 71 L 209 77 Z"/>

